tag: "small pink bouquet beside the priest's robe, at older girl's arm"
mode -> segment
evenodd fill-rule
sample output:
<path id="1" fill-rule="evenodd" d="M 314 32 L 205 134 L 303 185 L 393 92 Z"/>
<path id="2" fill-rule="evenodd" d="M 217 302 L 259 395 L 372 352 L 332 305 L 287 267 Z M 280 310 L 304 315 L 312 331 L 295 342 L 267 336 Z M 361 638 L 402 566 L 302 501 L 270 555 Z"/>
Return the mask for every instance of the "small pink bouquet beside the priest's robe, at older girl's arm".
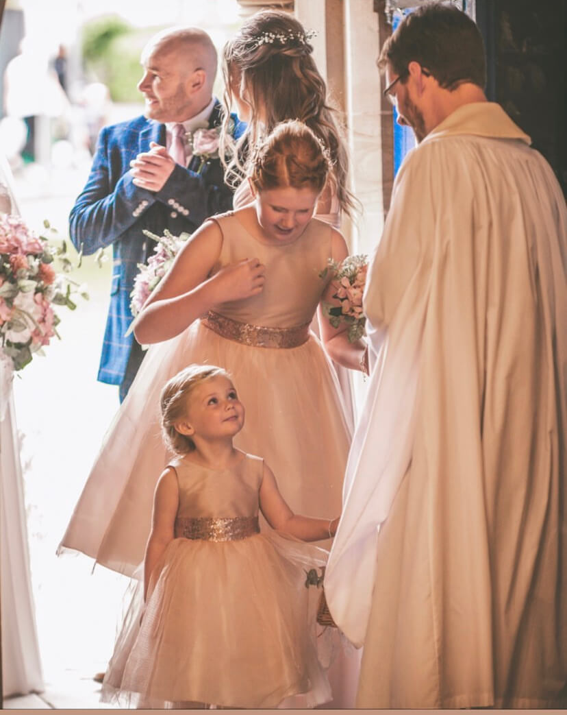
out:
<path id="1" fill-rule="evenodd" d="M 323 305 L 323 312 L 333 327 L 338 327 L 341 322 L 348 323 L 348 340 L 355 342 L 365 334 L 362 294 L 368 259 L 366 255 L 348 256 L 337 263 L 329 258 L 328 266 L 319 274 L 321 278 L 325 278 L 329 270 L 333 274 L 333 282 L 337 284 L 333 298 L 339 300 L 341 305 Z"/>

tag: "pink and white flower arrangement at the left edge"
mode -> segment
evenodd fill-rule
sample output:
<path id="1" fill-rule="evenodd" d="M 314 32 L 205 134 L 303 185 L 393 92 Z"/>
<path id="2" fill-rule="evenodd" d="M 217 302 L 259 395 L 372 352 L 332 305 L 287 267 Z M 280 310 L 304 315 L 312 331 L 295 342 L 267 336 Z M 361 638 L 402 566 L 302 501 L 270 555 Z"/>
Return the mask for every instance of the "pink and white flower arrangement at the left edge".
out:
<path id="1" fill-rule="evenodd" d="M 44 226 L 49 229 L 48 222 Z M 0 357 L 13 370 L 25 368 L 51 337 L 60 337 L 54 305 L 74 310 L 73 293 L 89 297 L 83 287 L 54 270 L 55 260 L 64 272 L 71 270 L 65 254 L 65 242 L 49 245 L 19 216 L 0 213 Z"/>

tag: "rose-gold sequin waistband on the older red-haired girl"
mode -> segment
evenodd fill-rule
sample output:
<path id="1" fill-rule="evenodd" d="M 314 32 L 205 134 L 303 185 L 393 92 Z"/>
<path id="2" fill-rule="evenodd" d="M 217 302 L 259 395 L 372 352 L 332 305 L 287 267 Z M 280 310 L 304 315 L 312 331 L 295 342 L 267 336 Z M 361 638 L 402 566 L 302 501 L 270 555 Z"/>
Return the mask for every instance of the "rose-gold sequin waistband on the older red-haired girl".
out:
<path id="1" fill-rule="evenodd" d="M 249 322 L 238 322 L 229 317 L 219 315 L 219 313 L 209 310 L 201 322 L 209 330 L 213 330 L 218 335 L 226 337 L 228 340 L 241 342 L 242 345 L 252 347 L 299 347 L 309 339 L 309 325 L 298 325 L 297 327 L 263 327 L 261 325 L 251 325 Z"/>

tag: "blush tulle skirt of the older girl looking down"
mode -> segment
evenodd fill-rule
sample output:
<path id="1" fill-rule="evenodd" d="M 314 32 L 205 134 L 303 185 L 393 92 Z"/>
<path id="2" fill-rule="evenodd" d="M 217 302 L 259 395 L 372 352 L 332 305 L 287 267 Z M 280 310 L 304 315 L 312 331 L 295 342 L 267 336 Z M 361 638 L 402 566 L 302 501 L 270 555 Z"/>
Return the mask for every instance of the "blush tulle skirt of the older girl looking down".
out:
<path id="1" fill-rule="evenodd" d="M 332 518 L 341 512 L 343 474 L 351 440 L 336 375 L 311 335 L 299 347 L 250 347 L 195 322 L 149 348 L 111 424 L 61 541 L 131 575 L 144 558 L 154 488 L 166 453 L 159 395 L 189 363 L 231 373 L 246 409 L 235 445 L 264 458 L 296 513 Z M 265 526 L 265 525 L 264 525 Z"/>

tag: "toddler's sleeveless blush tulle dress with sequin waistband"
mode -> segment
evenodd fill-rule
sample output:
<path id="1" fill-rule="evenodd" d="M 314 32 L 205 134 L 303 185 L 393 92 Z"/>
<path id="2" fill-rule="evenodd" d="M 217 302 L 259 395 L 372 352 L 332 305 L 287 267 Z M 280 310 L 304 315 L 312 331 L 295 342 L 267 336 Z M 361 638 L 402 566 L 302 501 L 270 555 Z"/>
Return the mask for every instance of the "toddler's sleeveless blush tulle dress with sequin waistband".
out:
<path id="1" fill-rule="evenodd" d="M 331 699 L 318 660 L 306 571 L 327 552 L 259 533 L 264 460 L 241 453 L 215 470 L 177 458 L 175 538 L 136 588 L 102 686 L 103 701 L 141 708 L 259 708 Z M 310 598 L 311 597 L 311 598 Z M 143 618 L 140 617 L 143 613 Z"/>

